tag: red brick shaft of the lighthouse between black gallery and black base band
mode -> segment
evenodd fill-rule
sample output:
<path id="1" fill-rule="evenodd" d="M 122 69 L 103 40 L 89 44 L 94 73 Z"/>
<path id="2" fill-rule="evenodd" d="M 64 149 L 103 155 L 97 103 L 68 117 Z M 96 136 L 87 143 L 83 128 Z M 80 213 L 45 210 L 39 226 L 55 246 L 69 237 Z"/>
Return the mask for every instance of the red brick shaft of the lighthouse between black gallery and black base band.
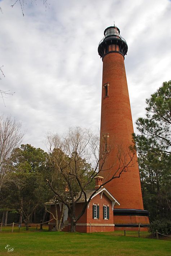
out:
<path id="1" fill-rule="evenodd" d="M 103 85 L 107 82 L 109 82 L 109 97 L 104 98 Z M 100 172 L 104 180 L 109 179 L 119 166 L 117 147 L 122 147 L 123 152 L 128 153 L 128 146 L 132 144 L 133 124 L 124 58 L 116 52 L 111 52 L 103 58 L 101 136 L 107 133 L 109 133 L 108 144 L 114 149 L 105 168 L 110 168 L 113 164 L 114 166 L 109 171 Z M 144 209 L 136 155 L 133 164 L 134 167 L 129 168 L 119 179 L 114 179 L 105 185 L 120 202 L 120 206 L 115 208 Z"/>

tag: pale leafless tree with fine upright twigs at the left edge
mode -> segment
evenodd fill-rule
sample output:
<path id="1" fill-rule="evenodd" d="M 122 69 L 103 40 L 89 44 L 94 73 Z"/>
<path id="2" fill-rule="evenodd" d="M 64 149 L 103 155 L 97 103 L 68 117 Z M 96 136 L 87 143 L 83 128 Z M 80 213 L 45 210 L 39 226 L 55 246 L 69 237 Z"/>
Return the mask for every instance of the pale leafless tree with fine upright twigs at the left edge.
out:
<path id="1" fill-rule="evenodd" d="M 21 123 L 11 116 L 0 116 L 0 191 L 2 187 L 7 187 L 9 182 L 19 182 L 12 175 L 11 162 L 16 158 L 13 150 L 19 146 L 23 135 Z"/>

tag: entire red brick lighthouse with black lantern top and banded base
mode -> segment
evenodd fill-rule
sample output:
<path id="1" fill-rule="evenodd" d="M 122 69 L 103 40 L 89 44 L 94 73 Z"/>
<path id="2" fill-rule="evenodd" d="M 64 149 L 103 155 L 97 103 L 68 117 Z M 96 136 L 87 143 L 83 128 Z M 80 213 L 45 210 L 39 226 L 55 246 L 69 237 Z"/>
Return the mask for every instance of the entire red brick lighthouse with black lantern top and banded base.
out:
<path id="1" fill-rule="evenodd" d="M 127 54 L 126 40 L 120 36 L 118 27 L 111 26 L 105 29 L 104 38 L 98 46 L 98 54 L 103 61 L 102 74 L 102 102 L 101 102 L 101 129 L 100 149 L 110 146 L 111 152 L 105 162 L 100 176 L 108 180 L 119 166 L 118 154 L 121 161 L 129 153 L 132 144 L 132 115 L 127 87 L 124 56 Z M 118 179 L 113 179 L 105 185 L 120 203 L 114 209 L 115 229 L 125 229 L 141 223 L 149 223 L 148 211 L 143 208 L 139 168 L 137 156 L 131 162 L 133 167 L 123 172 Z M 112 167 L 111 167 L 112 166 Z"/>

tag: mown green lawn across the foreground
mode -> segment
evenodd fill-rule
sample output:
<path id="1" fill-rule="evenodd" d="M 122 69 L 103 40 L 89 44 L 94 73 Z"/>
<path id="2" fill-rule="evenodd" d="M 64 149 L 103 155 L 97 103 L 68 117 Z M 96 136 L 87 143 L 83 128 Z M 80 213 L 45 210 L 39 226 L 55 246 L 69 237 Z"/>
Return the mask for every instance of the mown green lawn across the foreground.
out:
<path id="1" fill-rule="evenodd" d="M 171 255 L 171 242 L 116 235 L 110 233 L 70 232 L 1 232 L 0 255 L 6 255 L 6 244 L 13 255 Z M 115 234 L 115 235 L 114 235 Z M 8 252 L 9 253 L 9 252 Z"/>

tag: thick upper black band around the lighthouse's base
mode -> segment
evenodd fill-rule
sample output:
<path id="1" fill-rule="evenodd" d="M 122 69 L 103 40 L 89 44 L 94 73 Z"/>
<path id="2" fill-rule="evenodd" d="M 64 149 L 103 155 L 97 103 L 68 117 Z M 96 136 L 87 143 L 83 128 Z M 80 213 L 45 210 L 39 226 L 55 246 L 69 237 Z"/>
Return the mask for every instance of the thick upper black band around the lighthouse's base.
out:
<path id="1" fill-rule="evenodd" d="M 149 211 L 139 209 L 113 209 L 114 216 L 148 216 Z"/>

